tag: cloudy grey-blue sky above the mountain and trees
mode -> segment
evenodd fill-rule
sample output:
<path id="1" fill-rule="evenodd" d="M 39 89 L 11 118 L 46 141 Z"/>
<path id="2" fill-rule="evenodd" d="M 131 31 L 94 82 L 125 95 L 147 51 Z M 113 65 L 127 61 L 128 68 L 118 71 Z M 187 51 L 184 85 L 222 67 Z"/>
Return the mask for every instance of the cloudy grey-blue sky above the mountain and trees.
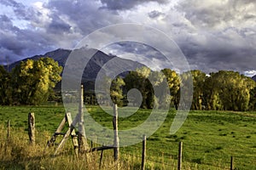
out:
<path id="1" fill-rule="evenodd" d="M 192 70 L 256 75 L 254 0 L 0 0 L 0 8 L 2 65 L 57 48 L 72 49 L 104 26 L 137 23 L 171 37 Z M 127 43 L 113 45 L 112 51 L 153 59 L 157 53 L 145 48 Z"/>

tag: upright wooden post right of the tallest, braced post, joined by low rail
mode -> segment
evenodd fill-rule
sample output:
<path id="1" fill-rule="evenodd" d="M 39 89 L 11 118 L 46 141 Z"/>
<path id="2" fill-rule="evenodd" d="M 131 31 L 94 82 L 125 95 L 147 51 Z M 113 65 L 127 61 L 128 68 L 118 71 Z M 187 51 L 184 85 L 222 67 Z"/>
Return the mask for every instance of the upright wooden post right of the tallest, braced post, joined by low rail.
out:
<path id="1" fill-rule="evenodd" d="M 113 158 L 114 161 L 119 160 L 119 128 L 118 128 L 118 106 L 113 105 Z M 117 165 L 118 168 L 118 165 Z"/>

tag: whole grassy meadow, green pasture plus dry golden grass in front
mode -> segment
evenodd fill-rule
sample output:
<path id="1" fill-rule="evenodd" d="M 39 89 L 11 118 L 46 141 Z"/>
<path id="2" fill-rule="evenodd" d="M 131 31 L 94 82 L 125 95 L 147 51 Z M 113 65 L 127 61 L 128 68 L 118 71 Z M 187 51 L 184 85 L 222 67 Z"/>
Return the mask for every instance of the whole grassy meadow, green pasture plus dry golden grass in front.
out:
<path id="1" fill-rule="evenodd" d="M 87 106 L 88 107 L 88 106 Z M 112 127 L 112 116 L 97 106 L 89 106 L 91 116 L 103 126 Z M 30 146 L 27 114 L 36 116 L 36 145 Z M 63 106 L 0 106 L 0 169 L 98 169 L 100 152 L 77 159 L 71 141 L 60 156 L 54 148 L 45 149 L 47 140 L 60 124 Z M 136 127 L 150 110 L 139 110 L 119 118 L 119 129 Z M 147 139 L 147 169 L 177 169 L 178 142 L 183 141 L 183 169 L 230 169 L 234 156 L 236 169 L 256 169 L 256 113 L 234 111 L 190 111 L 176 134 L 169 133 L 175 111 Z M 7 139 L 7 121 L 11 133 Z M 99 144 L 93 144 L 97 146 Z M 120 148 L 120 169 L 140 169 L 142 143 Z M 103 153 L 102 169 L 113 169 L 113 150 Z"/>

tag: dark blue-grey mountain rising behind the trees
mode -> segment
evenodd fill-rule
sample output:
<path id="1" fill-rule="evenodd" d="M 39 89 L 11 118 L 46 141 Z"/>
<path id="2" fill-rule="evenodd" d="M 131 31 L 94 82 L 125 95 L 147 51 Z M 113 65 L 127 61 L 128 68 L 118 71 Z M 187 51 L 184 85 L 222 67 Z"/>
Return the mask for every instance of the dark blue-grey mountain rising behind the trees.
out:
<path id="1" fill-rule="evenodd" d="M 145 66 L 143 64 L 140 64 L 136 61 L 132 61 L 130 59 L 121 59 L 117 56 L 113 56 L 113 55 L 108 55 L 103 53 L 100 50 L 97 49 L 93 49 L 93 48 L 79 48 L 79 49 L 74 49 L 72 50 L 68 50 L 68 49 L 56 49 L 55 51 L 51 51 L 48 52 L 46 54 L 43 55 L 35 55 L 31 58 L 26 58 L 26 59 L 22 59 L 20 61 L 26 61 L 27 59 L 40 59 L 40 58 L 44 58 L 44 57 L 49 57 L 52 59 L 55 59 L 55 61 L 57 61 L 59 63 L 59 65 L 61 65 L 63 68 L 66 65 L 67 59 L 68 57 L 74 57 L 73 55 L 77 55 L 79 56 L 79 61 L 77 63 L 74 63 L 73 68 L 78 69 L 79 67 L 81 67 L 81 64 L 83 63 L 84 59 L 87 59 L 88 56 L 91 56 L 91 54 L 94 54 L 89 62 L 87 63 L 87 65 L 82 65 L 84 67 L 82 67 L 84 69 L 84 74 L 82 77 L 82 82 L 94 82 L 96 80 L 97 74 L 99 71 L 101 71 L 101 69 L 103 71 L 105 71 L 105 64 L 108 63 L 108 61 L 111 60 L 111 69 L 113 71 L 117 71 L 120 68 L 139 68 L 142 66 Z M 20 63 L 20 61 L 17 61 L 11 65 L 9 65 L 9 71 L 11 71 L 11 69 L 13 69 L 15 67 L 15 65 L 18 65 Z M 78 65 L 78 66 L 75 66 Z M 112 71 L 111 69 L 109 69 L 109 71 Z M 109 71 L 105 71 L 106 73 L 108 73 Z M 125 70 L 127 72 L 127 70 Z M 122 74 L 120 74 L 120 76 L 124 76 L 126 73 L 123 72 Z"/>

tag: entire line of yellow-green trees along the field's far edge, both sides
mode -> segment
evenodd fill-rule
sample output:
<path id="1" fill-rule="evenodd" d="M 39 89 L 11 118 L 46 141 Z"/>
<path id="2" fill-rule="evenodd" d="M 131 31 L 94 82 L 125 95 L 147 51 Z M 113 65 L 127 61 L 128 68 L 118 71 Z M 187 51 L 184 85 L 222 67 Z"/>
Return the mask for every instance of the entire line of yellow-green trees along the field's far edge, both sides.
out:
<path id="1" fill-rule="evenodd" d="M 0 65 L 0 105 L 42 105 L 49 99 L 55 100 L 54 88 L 61 81 L 61 71 L 62 67 L 50 58 L 21 61 L 11 72 Z M 171 103 L 177 109 L 181 86 L 189 74 L 193 77 L 192 110 L 256 110 L 256 82 L 236 71 L 207 75 L 195 70 L 178 74 L 171 69 L 151 71 L 142 67 L 113 81 L 106 77 L 102 84 L 110 81 L 110 96 L 118 105 L 127 105 L 127 92 L 136 88 L 142 94 L 141 108 L 165 107 Z M 166 83 L 167 86 L 164 85 Z M 155 94 L 154 90 L 164 88 L 168 88 L 170 93 L 160 97 Z M 90 97 L 96 99 L 95 94 Z"/>

